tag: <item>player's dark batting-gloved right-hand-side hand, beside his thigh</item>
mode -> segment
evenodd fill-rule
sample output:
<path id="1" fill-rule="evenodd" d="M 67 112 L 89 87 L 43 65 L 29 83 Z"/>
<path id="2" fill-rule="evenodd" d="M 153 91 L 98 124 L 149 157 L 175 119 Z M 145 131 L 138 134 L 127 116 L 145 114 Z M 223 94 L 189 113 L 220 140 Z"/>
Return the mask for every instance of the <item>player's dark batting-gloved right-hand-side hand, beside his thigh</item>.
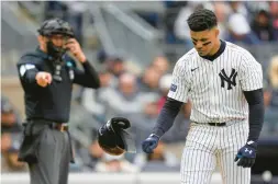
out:
<path id="1" fill-rule="evenodd" d="M 256 152 L 257 143 L 249 141 L 238 150 L 234 161 L 236 162 L 237 160 L 240 160 L 237 162 L 238 166 L 251 168 L 255 163 Z"/>

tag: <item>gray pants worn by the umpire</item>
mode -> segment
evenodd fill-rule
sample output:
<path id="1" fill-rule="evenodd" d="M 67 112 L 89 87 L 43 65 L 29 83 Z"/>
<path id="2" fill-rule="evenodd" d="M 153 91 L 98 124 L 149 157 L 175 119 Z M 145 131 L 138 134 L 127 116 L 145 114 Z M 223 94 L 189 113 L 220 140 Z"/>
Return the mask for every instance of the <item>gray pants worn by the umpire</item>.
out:
<path id="1" fill-rule="evenodd" d="M 68 134 L 48 126 L 42 134 L 36 152 L 38 162 L 29 164 L 31 184 L 67 184 L 70 161 Z"/>

